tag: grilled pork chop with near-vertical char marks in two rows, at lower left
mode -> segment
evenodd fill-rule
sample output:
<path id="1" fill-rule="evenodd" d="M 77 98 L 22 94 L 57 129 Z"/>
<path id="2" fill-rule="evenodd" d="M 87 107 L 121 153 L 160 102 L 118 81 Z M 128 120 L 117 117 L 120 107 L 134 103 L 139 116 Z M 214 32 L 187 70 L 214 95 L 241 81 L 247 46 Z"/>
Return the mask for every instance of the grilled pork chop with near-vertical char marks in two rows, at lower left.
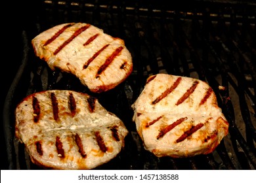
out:
<path id="1" fill-rule="evenodd" d="M 124 146 L 128 131 L 115 114 L 85 93 L 33 93 L 16 107 L 15 133 L 32 162 L 49 169 L 93 169 Z"/>

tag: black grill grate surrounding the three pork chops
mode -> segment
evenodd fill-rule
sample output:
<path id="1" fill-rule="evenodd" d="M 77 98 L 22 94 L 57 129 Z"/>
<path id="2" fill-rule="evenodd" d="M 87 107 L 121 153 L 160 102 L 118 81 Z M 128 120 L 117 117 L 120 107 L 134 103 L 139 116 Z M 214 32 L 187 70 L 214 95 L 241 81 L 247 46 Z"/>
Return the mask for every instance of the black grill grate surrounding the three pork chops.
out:
<path id="1" fill-rule="evenodd" d="M 66 89 L 97 97 L 123 120 L 129 135 L 112 161 L 96 169 L 256 169 L 256 3 L 253 1 L 36 1 L 26 8 L 23 57 L 3 108 L 9 169 L 41 169 L 31 163 L 14 138 L 14 110 L 26 95 Z M 27 17 L 27 18 L 28 18 Z M 26 19 L 26 18 L 25 18 Z M 66 22 L 95 25 L 125 41 L 133 56 L 133 73 L 105 93 L 91 93 L 75 76 L 51 71 L 33 54 L 31 40 Z M 131 104 L 146 78 L 157 73 L 199 78 L 213 88 L 230 124 L 229 134 L 208 155 L 156 158 L 144 150 L 132 122 Z"/>

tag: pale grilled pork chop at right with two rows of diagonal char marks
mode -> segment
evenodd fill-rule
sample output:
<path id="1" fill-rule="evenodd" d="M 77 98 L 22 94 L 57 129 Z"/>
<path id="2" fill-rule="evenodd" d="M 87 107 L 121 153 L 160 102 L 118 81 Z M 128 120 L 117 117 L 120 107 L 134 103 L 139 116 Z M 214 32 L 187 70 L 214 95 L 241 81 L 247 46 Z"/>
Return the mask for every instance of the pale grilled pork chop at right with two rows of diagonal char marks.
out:
<path id="1" fill-rule="evenodd" d="M 132 107 L 144 147 L 158 157 L 209 154 L 228 134 L 215 93 L 195 78 L 150 76 Z"/>

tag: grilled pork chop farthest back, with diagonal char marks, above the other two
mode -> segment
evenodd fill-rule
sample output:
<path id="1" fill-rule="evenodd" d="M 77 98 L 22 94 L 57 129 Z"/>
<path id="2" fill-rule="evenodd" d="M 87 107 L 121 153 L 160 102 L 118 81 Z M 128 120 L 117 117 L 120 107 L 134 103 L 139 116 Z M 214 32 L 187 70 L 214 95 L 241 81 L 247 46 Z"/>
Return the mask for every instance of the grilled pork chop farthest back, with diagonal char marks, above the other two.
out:
<path id="1" fill-rule="evenodd" d="M 96 93 L 115 88 L 133 70 L 124 41 L 90 24 L 56 25 L 32 39 L 32 46 L 52 70 L 72 73 Z"/>

